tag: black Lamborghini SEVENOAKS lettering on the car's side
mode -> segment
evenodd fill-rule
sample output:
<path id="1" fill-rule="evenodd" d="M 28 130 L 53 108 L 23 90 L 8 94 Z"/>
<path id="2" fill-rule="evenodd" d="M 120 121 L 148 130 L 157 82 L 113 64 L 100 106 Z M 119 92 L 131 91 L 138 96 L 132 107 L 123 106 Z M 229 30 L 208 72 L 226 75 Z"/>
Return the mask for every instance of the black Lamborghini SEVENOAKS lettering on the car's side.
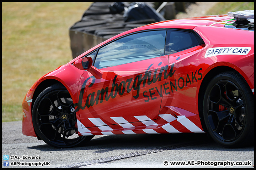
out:
<path id="1" fill-rule="evenodd" d="M 160 65 L 161 63 L 159 63 Z M 151 75 L 152 71 L 150 68 L 153 66 L 151 64 L 146 72 L 144 74 L 137 75 L 136 77 L 127 79 L 126 81 L 121 81 L 120 83 L 116 83 L 117 81 L 117 75 L 112 80 L 112 86 L 105 88 L 102 88 L 101 90 L 98 90 L 97 92 L 92 92 L 90 94 L 85 94 L 86 84 L 89 83 L 89 88 L 92 87 L 95 83 L 95 77 L 91 76 L 87 78 L 84 83 L 82 84 L 81 91 L 79 94 L 79 100 L 78 103 L 75 103 L 74 106 L 76 108 L 76 112 L 79 111 L 79 109 L 85 109 L 86 107 L 89 108 L 91 106 L 97 105 L 99 103 L 102 103 L 103 101 L 108 101 L 110 98 L 115 98 L 117 95 L 122 96 L 125 93 L 130 93 L 131 91 L 134 91 L 135 96 L 132 96 L 134 99 L 137 99 L 139 95 L 143 95 L 145 97 L 145 102 L 149 102 L 150 99 L 154 100 L 156 97 L 152 97 L 154 93 L 151 92 L 151 90 L 154 90 L 156 88 L 156 91 L 158 92 L 159 96 L 162 97 L 162 89 L 164 89 L 164 94 L 168 95 L 171 92 L 174 92 L 174 90 L 183 89 L 183 87 L 186 87 L 187 84 L 193 84 L 194 82 L 197 82 L 198 80 L 202 79 L 202 73 L 200 71 L 202 68 L 199 68 L 198 70 L 195 70 L 191 74 L 187 74 L 185 78 L 179 77 L 177 80 L 166 82 L 162 85 L 160 85 L 160 89 L 157 87 L 154 87 L 152 89 L 149 89 L 149 91 L 143 91 L 140 92 L 141 86 L 144 87 L 146 84 L 150 85 L 151 83 L 155 84 L 158 81 L 161 81 L 161 78 L 167 79 L 168 77 L 172 77 L 175 73 L 174 69 L 174 63 L 171 65 L 171 68 L 168 69 L 168 66 L 161 67 L 160 70 L 155 69 L 153 76 Z M 168 73 L 168 70 L 170 72 Z M 163 76 L 162 76 L 163 74 Z M 90 81 L 89 81 L 90 80 Z M 170 91 L 168 91 L 170 90 Z M 82 100 L 85 99 L 84 106 L 82 106 Z"/>

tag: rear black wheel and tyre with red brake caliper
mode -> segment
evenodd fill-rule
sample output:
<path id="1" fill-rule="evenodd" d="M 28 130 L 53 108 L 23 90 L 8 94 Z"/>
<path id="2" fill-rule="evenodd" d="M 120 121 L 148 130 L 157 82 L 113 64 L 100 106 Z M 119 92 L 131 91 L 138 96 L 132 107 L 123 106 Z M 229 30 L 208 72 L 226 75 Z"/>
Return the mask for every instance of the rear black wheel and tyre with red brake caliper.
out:
<path id="1" fill-rule="evenodd" d="M 203 116 L 213 140 L 226 148 L 254 142 L 254 95 L 240 74 L 223 72 L 208 84 Z"/>

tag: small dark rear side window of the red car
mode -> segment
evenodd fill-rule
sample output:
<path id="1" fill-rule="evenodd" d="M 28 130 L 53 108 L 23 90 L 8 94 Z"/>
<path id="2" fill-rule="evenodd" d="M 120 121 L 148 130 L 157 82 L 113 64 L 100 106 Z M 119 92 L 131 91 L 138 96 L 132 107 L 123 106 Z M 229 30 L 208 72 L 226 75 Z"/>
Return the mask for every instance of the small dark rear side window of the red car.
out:
<path id="1" fill-rule="evenodd" d="M 166 36 L 165 54 L 172 54 L 200 44 L 201 38 L 192 32 L 168 30 Z"/>

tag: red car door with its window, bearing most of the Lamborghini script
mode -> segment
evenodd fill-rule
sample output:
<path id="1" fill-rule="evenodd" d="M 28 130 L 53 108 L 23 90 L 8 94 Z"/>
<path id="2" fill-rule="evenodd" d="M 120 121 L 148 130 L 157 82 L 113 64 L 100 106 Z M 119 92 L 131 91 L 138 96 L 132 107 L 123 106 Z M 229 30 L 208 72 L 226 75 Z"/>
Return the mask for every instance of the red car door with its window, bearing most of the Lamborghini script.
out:
<path id="1" fill-rule="evenodd" d="M 102 78 L 85 72 L 79 83 L 82 127 L 158 118 L 169 68 L 165 37 L 166 30 L 140 32 L 98 49 Z"/>

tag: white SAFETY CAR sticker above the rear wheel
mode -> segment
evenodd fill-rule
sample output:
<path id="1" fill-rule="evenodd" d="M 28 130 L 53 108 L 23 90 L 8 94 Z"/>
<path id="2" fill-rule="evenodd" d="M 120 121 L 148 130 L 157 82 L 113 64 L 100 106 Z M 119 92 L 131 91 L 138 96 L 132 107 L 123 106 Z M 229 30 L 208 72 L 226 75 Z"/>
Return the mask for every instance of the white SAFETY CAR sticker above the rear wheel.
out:
<path id="1" fill-rule="evenodd" d="M 204 55 L 205 58 L 219 55 L 247 55 L 251 47 L 214 47 L 209 48 Z"/>

